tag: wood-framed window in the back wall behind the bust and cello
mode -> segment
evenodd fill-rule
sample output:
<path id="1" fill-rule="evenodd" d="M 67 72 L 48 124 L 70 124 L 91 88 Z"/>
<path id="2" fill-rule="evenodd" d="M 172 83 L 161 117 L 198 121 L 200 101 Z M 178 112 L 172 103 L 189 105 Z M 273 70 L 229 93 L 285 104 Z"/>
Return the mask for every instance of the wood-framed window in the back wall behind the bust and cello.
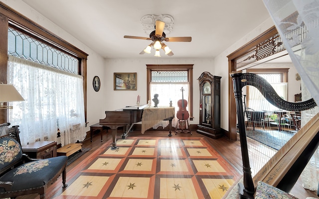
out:
<path id="1" fill-rule="evenodd" d="M 192 120 L 192 69 L 192 64 L 147 65 L 148 99 L 152 100 L 155 94 L 159 94 L 159 106 L 168 106 L 172 101 L 175 111 L 178 111 L 177 101 L 183 97 L 188 102 L 187 109 Z"/>

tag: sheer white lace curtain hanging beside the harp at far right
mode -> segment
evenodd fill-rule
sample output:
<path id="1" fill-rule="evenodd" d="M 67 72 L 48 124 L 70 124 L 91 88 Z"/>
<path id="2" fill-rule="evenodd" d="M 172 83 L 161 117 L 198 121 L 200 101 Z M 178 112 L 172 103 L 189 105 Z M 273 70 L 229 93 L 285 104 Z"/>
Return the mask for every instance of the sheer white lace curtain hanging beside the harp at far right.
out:
<path id="1" fill-rule="evenodd" d="M 310 92 L 309 97 L 319 104 L 319 0 L 263 1 L 305 88 Z M 305 39 L 303 32 L 294 31 L 299 27 L 306 28 Z M 303 100 L 308 100 L 306 96 L 303 90 Z M 318 187 L 318 154 L 317 150 L 301 176 L 306 189 L 316 190 Z"/>

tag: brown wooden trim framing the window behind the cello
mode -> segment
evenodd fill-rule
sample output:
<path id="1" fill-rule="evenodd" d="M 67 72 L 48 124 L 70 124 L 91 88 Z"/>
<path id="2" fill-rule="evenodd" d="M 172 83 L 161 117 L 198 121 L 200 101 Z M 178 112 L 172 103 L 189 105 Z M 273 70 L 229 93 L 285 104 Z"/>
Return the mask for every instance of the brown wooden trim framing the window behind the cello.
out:
<path id="1" fill-rule="evenodd" d="M 189 81 L 189 110 L 190 113 L 189 119 L 193 120 L 193 64 L 160 64 L 160 65 L 153 65 L 147 64 L 147 98 L 151 99 L 150 94 L 150 84 L 151 84 L 151 72 L 152 71 L 178 71 L 178 70 L 187 70 L 188 71 L 188 81 Z"/>

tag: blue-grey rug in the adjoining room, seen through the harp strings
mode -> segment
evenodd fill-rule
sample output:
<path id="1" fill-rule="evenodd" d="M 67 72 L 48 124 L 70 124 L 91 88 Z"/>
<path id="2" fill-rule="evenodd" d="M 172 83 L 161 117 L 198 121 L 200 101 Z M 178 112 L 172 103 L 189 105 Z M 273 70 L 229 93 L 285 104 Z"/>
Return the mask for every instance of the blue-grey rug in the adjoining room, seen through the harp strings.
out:
<path id="1" fill-rule="evenodd" d="M 273 149 L 279 150 L 290 140 L 294 133 L 278 130 L 246 130 L 247 137 L 263 143 Z"/>

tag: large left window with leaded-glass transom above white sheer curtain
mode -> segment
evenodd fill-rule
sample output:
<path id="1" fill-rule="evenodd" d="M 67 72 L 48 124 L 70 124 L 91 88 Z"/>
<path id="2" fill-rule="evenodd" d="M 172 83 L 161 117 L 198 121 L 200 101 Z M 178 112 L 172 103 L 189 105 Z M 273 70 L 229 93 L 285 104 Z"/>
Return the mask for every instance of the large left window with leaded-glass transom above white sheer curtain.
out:
<path id="1" fill-rule="evenodd" d="M 7 83 L 25 101 L 11 102 L 8 122 L 19 125 L 21 144 L 85 139 L 83 78 L 78 60 L 12 28 L 8 29 Z M 13 56 L 12 56 L 13 55 Z"/>

